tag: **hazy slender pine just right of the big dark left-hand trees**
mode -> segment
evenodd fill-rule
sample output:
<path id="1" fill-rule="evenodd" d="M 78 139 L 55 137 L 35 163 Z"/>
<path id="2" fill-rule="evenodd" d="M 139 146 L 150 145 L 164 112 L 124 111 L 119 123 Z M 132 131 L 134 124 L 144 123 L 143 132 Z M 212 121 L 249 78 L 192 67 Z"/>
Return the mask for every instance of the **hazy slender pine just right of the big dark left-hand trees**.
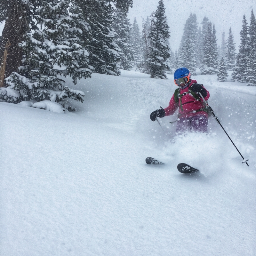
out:
<path id="1" fill-rule="evenodd" d="M 143 60 L 142 46 L 140 45 L 140 29 L 136 18 L 134 18 L 131 32 L 132 49 L 134 50 L 134 62 L 133 66 L 137 67 Z"/>

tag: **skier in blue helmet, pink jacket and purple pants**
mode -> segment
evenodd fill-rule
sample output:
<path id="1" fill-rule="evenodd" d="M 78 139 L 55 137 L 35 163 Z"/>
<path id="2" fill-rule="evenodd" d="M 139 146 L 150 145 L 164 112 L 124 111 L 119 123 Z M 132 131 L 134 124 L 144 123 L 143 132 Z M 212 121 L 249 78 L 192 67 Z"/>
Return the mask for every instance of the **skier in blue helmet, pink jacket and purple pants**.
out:
<path id="1" fill-rule="evenodd" d="M 179 108 L 176 132 L 206 132 L 208 124 L 208 114 L 199 94 L 201 92 L 205 100 L 210 97 L 209 92 L 203 84 L 197 84 L 196 80 L 191 80 L 190 72 L 187 68 L 178 68 L 174 72 L 174 83 L 179 86 L 172 95 L 167 108 L 156 109 L 150 115 L 154 122 L 156 117 L 173 115 Z"/>

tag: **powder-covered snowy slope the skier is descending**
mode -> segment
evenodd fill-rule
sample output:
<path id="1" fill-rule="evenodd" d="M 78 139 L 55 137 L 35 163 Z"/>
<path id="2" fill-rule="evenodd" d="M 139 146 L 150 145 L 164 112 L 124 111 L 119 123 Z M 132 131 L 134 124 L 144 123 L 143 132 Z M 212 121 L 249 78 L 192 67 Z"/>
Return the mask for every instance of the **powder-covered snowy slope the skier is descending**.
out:
<path id="1" fill-rule="evenodd" d="M 256 87 L 193 76 L 247 167 L 212 117 L 208 135 L 150 121 L 168 78 L 66 79 L 86 95 L 74 113 L 0 103 L 2 256 L 256 255 Z"/>

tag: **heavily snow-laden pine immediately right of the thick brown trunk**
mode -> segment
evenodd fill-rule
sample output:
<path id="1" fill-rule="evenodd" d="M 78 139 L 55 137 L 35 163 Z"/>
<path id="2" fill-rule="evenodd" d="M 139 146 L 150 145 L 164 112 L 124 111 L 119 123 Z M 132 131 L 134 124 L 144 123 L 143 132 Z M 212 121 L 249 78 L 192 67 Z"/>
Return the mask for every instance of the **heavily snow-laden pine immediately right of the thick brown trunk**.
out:
<path id="1" fill-rule="evenodd" d="M 43 28 L 43 45 L 49 47 L 45 50 L 51 54 L 52 64 L 61 67 L 58 72 L 71 76 L 75 84 L 77 78 L 90 77 L 92 67 L 88 64 L 89 54 L 80 39 L 80 35 L 87 32 L 89 24 L 82 15 L 68 13 L 69 0 L 46 0 L 43 3 L 37 9 L 35 19 Z"/>

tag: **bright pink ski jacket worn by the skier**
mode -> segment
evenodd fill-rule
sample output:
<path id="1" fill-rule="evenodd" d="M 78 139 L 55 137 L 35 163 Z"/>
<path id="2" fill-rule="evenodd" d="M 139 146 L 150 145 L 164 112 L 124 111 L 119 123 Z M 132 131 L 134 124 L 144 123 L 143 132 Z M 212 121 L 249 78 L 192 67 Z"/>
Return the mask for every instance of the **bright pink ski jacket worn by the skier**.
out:
<path id="1" fill-rule="evenodd" d="M 184 93 L 184 95 L 181 96 L 181 104 L 182 104 L 183 111 L 180 106 L 180 98 L 177 104 L 174 100 L 174 94 L 173 94 L 170 100 L 169 106 L 167 108 L 164 108 L 165 116 L 173 115 L 174 112 L 177 110 L 177 108 L 179 108 L 179 115 L 178 115 L 179 118 L 196 116 L 198 114 L 204 115 L 208 118 L 208 114 L 205 111 L 200 110 L 204 108 L 203 100 L 201 98 L 200 100 L 196 100 L 191 93 L 187 93 L 189 90 L 189 87 L 192 84 L 196 84 L 196 83 L 197 83 L 196 80 L 191 80 L 191 83 L 188 85 L 188 87 L 186 87 L 185 89 L 182 89 L 182 88 L 180 89 L 180 96 L 181 94 Z M 210 97 L 210 93 L 207 90 L 206 92 L 207 92 L 207 96 L 204 99 L 208 100 Z"/>

